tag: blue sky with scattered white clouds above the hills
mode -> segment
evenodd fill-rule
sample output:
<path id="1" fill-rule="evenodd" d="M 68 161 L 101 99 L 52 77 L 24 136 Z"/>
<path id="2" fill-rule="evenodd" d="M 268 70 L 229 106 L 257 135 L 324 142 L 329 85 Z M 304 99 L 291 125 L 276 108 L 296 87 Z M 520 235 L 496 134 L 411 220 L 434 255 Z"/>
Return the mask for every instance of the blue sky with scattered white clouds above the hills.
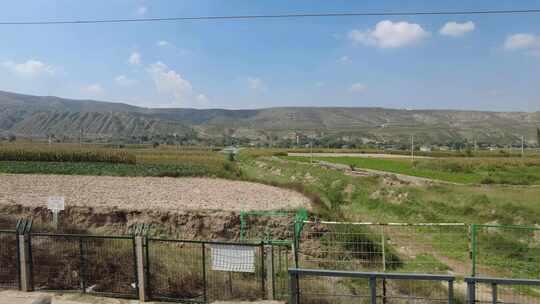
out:
<path id="1" fill-rule="evenodd" d="M 540 8 L 530 1 L 6 1 L 1 21 Z M 0 90 L 145 107 L 540 111 L 540 15 L 0 26 Z"/>

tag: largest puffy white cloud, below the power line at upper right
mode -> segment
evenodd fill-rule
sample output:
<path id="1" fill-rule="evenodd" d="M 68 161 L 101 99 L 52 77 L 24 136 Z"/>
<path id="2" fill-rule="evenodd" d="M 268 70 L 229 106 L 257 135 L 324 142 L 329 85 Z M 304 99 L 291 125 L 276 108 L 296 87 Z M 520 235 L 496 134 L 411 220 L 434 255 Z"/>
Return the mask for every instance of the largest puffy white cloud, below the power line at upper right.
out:
<path id="1" fill-rule="evenodd" d="M 416 23 L 384 20 L 375 29 L 352 30 L 349 39 L 354 43 L 379 48 L 399 48 L 418 43 L 430 36 L 429 32 Z"/>

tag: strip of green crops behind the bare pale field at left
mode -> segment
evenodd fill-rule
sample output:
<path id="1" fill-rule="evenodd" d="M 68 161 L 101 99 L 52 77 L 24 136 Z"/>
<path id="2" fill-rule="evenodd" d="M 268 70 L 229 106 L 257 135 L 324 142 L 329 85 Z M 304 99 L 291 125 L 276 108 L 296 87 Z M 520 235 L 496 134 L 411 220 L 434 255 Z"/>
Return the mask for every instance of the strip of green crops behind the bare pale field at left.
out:
<path id="1" fill-rule="evenodd" d="M 107 176 L 210 176 L 237 179 L 236 163 L 208 148 L 174 146 L 111 147 L 75 144 L 48 146 L 13 143 L 0 147 L 1 173 L 107 175 Z"/>

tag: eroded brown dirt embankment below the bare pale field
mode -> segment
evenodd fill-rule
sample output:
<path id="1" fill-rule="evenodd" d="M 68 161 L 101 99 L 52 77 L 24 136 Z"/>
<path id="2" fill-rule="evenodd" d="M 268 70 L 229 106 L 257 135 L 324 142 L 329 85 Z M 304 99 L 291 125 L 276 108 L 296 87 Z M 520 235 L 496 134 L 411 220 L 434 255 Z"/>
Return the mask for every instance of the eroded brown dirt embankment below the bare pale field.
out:
<path id="1" fill-rule="evenodd" d="M 0 205 L 0 229 L 13 229 L 18 218 L 32 218 L 33 231 L 53 231 L 52 214 L 46 207 Z M 272 227 L 273 237 L 290 237 L 292 218 L 250 217 L 247 239 L 263 237 L 264 227 Z M 189 240 L 240 239 L 240 213 L 210 210 L 125 210 L 118 208 L 69 207 L 60 213 L 59 232 L 123 235 L 136 224 L 150 224 L 150 234 L 162 238 Z M 261 228 L 262 227 L 262 228 Z"/>

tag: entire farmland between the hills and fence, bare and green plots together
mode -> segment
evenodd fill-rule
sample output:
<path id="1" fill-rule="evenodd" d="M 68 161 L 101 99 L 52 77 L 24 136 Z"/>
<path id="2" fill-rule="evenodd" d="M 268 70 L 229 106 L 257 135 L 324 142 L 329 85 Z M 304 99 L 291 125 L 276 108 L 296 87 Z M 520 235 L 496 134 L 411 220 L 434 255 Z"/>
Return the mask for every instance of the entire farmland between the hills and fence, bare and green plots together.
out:
<path id="1" fill-rule="evenodd" d="M 1 149 L 14 148 L 6 145 Z M 32 159 L 22 152 L 20 161 L 0 161 L 0 172 L 10 173 L 0 175 L 0 181 L 7 186 L 0 196 L 3 210 L 17 210 L 16 214 L 32 213 L 43 224 L 49 213 L 40 208 L 40 202 L 47 196 L 61 193 L 72 204 L 65 214 L 66 221 L 105 233 L 114 233 L 120 231 L 120 227 L 144 221 L 153 223 L 153 229 L 159 236 L 235 239 L 240 230 L 239 211 L 294 210 L 300 207 L 309 207 L 311 219 L 315 221 L 453 222 L 535 227 L 540 218 L 540 207 L 535 203 L 540 196 L 540 188 L 534 186 L 535 179 L 528 177 L 527 182 L 519 187 L 486 184 L 482 180 L 486 177 L 502 180 L 503 175 L 521 178 L 526 175 L 523 172 L 529 172 L 527 170 L 531 170 L 528 174 L 534 177 L 538 166 L 535 157 L 439 157 L 417 159 L 415 163 L 402 158 L 314 159 L 463 183 L 418 185 L 390 176 L 352 176 L 344 171 L 310 164 L 306 157 L 288 157 L 286 151 L 278 149 L 244 149 L 236 157 L 230 157 L 204 147 L 64 145 L 55 150 L 59 156 L 53 159 L 49 158 L 50 154 L 43 154 L 47 155 L 43 156 L 44 159 L 40 159 L 41 156 L 36 158 L 35 151 L 50 149 L 44 144 L 22 148 L 19 144 L 17 149 L 33 151 L 29 154 Z M 87 151 L 96 155 L 124 155 L 127 159 L 134 158 L 135 162 L 107 161 L 106 157 L 93 162 L 73 158 L 77 153 L 94 155 Z M 63 155 L 71 159 L 59 161 Z M 17 202 L 18 209 L 10 209 L 9 202 Z M 276 235 L 289 235 L 285 222 L 263 221 L 259 224 L 272 225 L 275 229 L 272 232 Z M 307 225 L 306 233 L 328 231 L 314 225 Z M 268 227 L 262 227 L 262 230 Z M 456 227 L 456 230 L 448 228 L 448 233 L 442 233 L 439 228 L 386 229 L 388 263 L 392 265 L 389 267 L 393 271 L 468 274 L 467 229 L 465 226 Z M 338 232 L 351 238 L 351 242 L 367 242 L 372 246 L 369 250 L 375 254 L 378 245 L 377 238 L 371 236 L 373 229 L 354 229 L 352 232 L 338 229 Z M 482 271 L 535 276 L 538 268 L 529 265 L 536 261 L 535 254 L 539 248 L 534 239 L 536 233 L 490 234 L 491 230 L 486 231 L 481 236 L 489 242 L 483 241 L 478 245 L 481 252 L 490 252 L 490 255 L 480 255 L 485 267 Z M 351 233 L 360 233 L 364 237 Z M 328 246 L 337 246 L 336 250 L 344 252 L 347 250 L 345 245 Z M 304 248 L 310 249 L 309 246 Z M 333 265 L 329 260 L 304 262 L 310 267 Z M 376 260 L 369 263 L 361 269 L 379 270 Z M 345 267 L 346 263 L 341 261 L 340 265 Z M 505 267 L 513 267 L 513 273 L 508 274 Z"/>

